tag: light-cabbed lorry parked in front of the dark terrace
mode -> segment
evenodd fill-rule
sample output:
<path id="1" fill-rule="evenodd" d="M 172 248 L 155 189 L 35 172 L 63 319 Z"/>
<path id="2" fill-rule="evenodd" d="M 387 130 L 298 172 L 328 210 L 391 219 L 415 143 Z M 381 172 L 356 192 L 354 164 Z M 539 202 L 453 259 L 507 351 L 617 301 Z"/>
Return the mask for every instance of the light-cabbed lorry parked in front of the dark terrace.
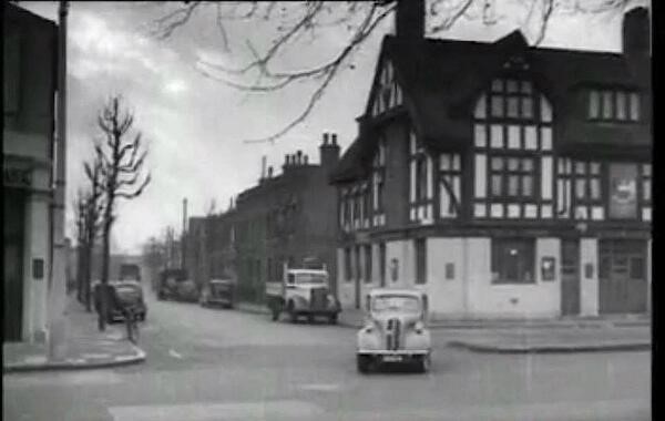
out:
<path id="1" fill-rule="evenodd" d="M 330 290 L 325 265 L 316 269 L 306 265 L 293 268 L 284 264 L 282 279 L 266 281 L 266 300 L 275 321 L 286 311 L 291 322 L 300 316 L 307 317 L 309 322 L 321 316 L 335 325 L 341 310 L 339 300 Z"/>

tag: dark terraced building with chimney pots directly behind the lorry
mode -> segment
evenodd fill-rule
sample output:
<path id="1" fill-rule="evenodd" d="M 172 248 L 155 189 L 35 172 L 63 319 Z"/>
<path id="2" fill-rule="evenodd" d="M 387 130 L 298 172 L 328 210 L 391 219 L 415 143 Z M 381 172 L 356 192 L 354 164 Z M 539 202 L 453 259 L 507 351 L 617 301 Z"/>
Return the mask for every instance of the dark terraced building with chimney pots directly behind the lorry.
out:
<path id="1" fill-rule="evenodd" d="M 300 151 L 286 155 L 282 174 L 272 167 L 235 204 L 236 276 L 242 299 L 263 302 L 266 279 L 282 278 L 283 264 L 314 257 L 336 280 L 336 189 L 328 177 L 339 161 L 336 134 L 324 134 L 320 163 Z"/>

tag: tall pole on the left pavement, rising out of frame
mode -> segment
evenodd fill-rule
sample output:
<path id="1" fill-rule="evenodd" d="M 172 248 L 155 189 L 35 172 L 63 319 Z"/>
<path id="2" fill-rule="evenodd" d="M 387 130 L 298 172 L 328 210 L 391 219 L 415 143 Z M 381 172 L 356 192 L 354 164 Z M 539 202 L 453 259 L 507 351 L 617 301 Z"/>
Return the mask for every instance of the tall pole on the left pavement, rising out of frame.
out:
<path id="1" fill-rule="evenodd" d="M 60 360 L 65 357 L 65 258 L 64 243 L 64 192 L 66 175 L 66 16 L 69 1 L 60 1 L 58 14 L 58 114 L 55 132 L 55 185 L 51 204 L 51 240 L 52 259 L 49 285 L 49 359 Z"/>

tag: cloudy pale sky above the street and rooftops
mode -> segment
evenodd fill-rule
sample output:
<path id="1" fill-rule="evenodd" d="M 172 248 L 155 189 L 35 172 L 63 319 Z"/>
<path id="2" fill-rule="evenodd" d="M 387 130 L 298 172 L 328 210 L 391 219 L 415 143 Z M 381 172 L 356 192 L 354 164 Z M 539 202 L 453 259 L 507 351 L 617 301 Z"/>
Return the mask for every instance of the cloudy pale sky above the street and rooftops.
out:
<path id="1" fill-rule="evenodd" d="M 567 2 L 573 0 L 567 0 Z M 596 0 L 589 0 L 594 2 Z M 600 1 L 600 0 L 597 0 Z M 596 1 L 596 2 L 597 2 Z M 563 0 L 566 2 L 566 0 Z M 92 157 L 100 135 L 96 113 L 111 94 L 122 94 L 135 114 L 135 127 L 147 141 L 152 183 L 136 199 L 121 202 L 113 228 L 115 253 L 140 253 L 151 237 L 161 238 L 172 226 L 180 233 L 183 199 L 188 216 L 204 215 L 212 201 L 225 210 L 232 197 L 257 183 L 262 157 L 280 173 L 284 155 L 301 150 L 317 163 L 324 132 L 337 133 L 344 150 L 357 134 L 383 34 L 393 31 L 391 17 L 332 82 L 310 116 L 274 143 L 246 143 L 278 132 L 304 109 L 314 89 L 295 84 L 286 92 L 247 95 L 196 70 L 197 58 L 238 66 L 247 55 L 237 44 L 249 38 L 267 45 L 272 22 L 227 27 L 232 52 L 211 13 L 194 16 L 192 24 L 167 40 L 151 37 L 145 25 L 171 10 L 163 2 L 71 1 L 68 33 L 68 209 L 66 235 L 74 238 L 72 202 L 85 186 L 83 162 Z M 533 23 L 524 21 L 522 0 L 497 0 L 497 22 L 485 25 L 463 18 L 434 38 L 492 42 L 520 28 L 533 39 Z M 635 1 L 646 4 L 646 1 Z M 19 4 L 57 20 L 58 2 Z M 213 9 L 214 10 L 214 9 Z M 428 21 L 428 25 L 432 25 Z M 339 29 L 316 39 L 299 40 L 294 53 L 280 59 L 285 69 L 320 63 L 345 43 Z M 237 42 L 236 42 L 237 41 Z M 235 47 L 234 47 L 235 44 Z M 553 14 L 542 47 L 621 51 L 621 13 Z"/>

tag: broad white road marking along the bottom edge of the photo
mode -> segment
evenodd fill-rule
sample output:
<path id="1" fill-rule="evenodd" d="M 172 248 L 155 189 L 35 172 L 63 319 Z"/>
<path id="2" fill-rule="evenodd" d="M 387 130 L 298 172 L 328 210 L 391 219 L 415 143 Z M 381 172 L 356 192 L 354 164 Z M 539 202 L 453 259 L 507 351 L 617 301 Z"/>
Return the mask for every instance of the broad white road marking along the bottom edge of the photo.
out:
<path id="1" fill-rule="evenodd" d="M 321 408 L 297 400 L 110 407 L 109 412 L 114 421 L 313 420 L 324 413 Z"/>

